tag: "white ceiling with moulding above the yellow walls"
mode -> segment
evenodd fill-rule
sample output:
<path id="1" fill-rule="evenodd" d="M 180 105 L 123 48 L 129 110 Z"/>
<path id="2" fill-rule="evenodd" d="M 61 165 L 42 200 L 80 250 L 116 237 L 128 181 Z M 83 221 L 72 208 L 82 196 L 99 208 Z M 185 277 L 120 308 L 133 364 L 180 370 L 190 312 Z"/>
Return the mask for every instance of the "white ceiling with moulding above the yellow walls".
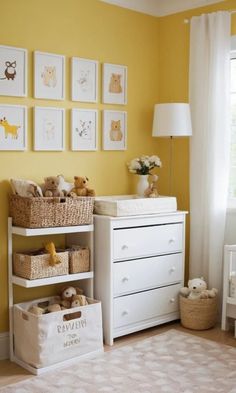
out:
<path id="1" fill-rule="evenodd" d="M 142 12 L 153 16 L 164 16 L 192 8 L 220 3 L 222 0 L 101 0 L 105 3 Z M 224 0 L 223 0 L 224 1 Z"/>

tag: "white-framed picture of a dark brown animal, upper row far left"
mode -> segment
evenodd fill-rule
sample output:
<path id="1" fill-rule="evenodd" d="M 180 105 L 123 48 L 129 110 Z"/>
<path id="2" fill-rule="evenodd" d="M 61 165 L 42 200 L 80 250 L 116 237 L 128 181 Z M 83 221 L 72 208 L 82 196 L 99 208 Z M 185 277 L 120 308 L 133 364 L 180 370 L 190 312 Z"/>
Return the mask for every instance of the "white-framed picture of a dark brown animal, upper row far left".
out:
<path id="1" fill-rule="evenodd" d="M 0 95 L 27 96 L 28 51 L 0 45 Z"/>

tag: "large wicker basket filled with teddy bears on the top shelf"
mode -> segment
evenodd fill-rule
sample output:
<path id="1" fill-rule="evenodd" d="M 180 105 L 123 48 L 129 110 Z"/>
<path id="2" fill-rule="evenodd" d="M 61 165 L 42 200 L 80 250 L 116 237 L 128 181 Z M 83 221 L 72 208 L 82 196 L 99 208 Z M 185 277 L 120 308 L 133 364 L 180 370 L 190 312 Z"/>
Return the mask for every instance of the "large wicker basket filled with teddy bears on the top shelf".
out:
<path id="1" fill-rule="evenodd" d="M 24 228 L 47 228 L 91 224 L 92 197 L 28 198 L 10 195 L 13 225 Z"/>

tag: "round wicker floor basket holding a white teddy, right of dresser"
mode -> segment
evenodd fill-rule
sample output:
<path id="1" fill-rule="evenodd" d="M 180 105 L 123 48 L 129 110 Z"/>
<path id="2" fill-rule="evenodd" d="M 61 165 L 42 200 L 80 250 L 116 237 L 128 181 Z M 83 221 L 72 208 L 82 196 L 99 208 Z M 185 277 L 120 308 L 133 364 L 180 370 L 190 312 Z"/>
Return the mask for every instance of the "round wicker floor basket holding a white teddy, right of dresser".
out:
<path id="1" fill-rule="evenodd" d="M 181 324 L 193 330 L 212 328 L 217 320 L 217 297 L 188 299 L 180 295 Z"/>

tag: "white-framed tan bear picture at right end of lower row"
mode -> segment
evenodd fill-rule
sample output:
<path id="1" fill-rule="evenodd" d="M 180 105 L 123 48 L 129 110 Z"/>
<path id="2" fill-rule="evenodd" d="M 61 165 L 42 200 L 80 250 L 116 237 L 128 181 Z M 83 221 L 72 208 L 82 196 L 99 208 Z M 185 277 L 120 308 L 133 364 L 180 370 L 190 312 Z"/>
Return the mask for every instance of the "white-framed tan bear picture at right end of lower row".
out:
<path id="1" fill-rule="evenodd" d="M 127 112 L 103 111 L 103 150 L 127 149 Z"/>

